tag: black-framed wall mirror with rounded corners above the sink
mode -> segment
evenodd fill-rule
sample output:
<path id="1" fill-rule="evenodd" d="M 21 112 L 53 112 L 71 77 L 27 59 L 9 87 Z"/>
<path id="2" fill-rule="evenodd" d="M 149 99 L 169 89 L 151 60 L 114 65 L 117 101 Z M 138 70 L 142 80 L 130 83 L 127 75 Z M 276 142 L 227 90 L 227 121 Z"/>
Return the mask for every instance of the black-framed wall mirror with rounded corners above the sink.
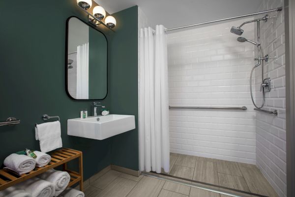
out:
<path id="1" fill-rule="evenodd" d="M 108 92 L 106 36 L 74 16 L 66 27 L 67 94 L 72 99 L 104 99 Z"/>

